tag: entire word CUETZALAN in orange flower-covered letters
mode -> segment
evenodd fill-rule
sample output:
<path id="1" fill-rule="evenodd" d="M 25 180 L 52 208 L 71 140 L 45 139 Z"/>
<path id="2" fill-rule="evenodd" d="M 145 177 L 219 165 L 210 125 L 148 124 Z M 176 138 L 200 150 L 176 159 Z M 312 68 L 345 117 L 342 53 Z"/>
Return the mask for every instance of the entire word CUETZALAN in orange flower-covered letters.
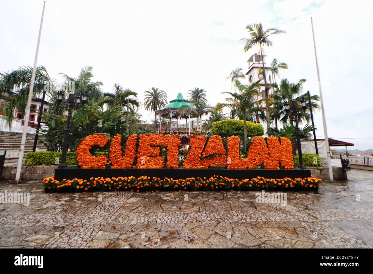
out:
<path id="1" fill-rule="evenodd" d="M 267 142 L 266 142 L 267 141 Z M 125 144 L 124 144 L 125 143 Z M 91 149 L 110 144 L 109 158 L 94 156 Z M 76 149 L 77 160 L 82 169 L 162 169 L 178 168 L 181 136 L 162 134 L 130 135 L 125 142 L 118 134 L 111 140 L 102 134 L 87 136 Z M 123 154 L 124 148 L 124 154 Z M 163 157 L 161 155 L 164 153 Z M 292 169 L 294 167 L 292 144 L 286 137 L 261 136 L 251 139 L 247 157 L 240 157 L 239 138 L 231 136 L 223 145 L 220 136 L 190 136 L 189 149 L 183 169 L 207 169 L 226 166 L 228 169 Z"/>

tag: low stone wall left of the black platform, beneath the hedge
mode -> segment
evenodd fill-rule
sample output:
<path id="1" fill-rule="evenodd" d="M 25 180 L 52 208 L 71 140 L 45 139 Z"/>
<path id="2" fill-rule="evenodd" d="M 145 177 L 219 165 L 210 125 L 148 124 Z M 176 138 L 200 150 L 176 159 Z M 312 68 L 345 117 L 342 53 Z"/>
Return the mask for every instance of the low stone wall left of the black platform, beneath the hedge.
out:
<path id="1" fill-rule="evenodd" d="M 43 180 L 54 175 L 57 166 L 22 166 L 21 180 Z M 5 166 L 3 169 L 3 180 L 16 179 L 16 166 Z"/>

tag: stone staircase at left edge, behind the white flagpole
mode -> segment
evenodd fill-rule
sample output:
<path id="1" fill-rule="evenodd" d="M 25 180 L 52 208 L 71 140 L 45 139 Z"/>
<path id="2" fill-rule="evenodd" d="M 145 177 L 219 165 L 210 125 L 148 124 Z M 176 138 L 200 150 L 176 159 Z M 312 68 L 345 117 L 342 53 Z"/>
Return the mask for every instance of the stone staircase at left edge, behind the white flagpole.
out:
<path id="1" fill-rule="evenodd" d="M 44 145 L 40 144 L 39 142 L 42 138 L 43 135 L 40 134 L 38 138 L 38 144 L 36 146 L 37 151 L 46 151 L 46 147 L 44 147 Z M 21 147 L 21 139 L 22 133 L 0 131 L 0 154 L 4 154 L 4 151 L 6 150 L 4 165 L 9 166 L 17 163 L 19 147 Z M 34 147 L 34 139 L 34 134 L 27 133 L 25 154 L 29 151 L 32 151 L 32 148 Z"/>

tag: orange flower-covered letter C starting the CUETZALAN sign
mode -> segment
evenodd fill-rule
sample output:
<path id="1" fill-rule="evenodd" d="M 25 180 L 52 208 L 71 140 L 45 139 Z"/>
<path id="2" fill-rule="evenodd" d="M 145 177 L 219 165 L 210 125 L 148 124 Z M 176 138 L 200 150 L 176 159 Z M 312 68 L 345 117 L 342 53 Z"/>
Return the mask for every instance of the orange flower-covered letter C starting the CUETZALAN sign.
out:
<path id="1" fill-rule="evenodd" d="M 107 157 L 98 155 L 94 157 L 90 149 L 94 145 L 104 147 L 110 138 L 102 134 L 93 134 L 85 137 L 76 148 L 76 159 L 82 169 L 104 169 L 107 164 Z"/>

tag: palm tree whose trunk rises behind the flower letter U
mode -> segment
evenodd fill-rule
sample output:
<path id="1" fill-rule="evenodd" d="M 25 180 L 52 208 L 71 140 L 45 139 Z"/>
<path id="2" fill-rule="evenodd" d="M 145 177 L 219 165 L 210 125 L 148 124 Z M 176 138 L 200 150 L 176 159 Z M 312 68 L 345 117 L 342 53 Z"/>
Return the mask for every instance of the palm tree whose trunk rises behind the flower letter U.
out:
<path id="1" fill-rule="evenodd" d="M 122 85 L 114 84 L 114 93 L 105 92 L 100 100 L 100 105 L 106 104 L 108 108 L 127 106 L 126 111 L 126 133 L 129 133 L 128 117 L 129 110 L 138 110 L 140 102 L 137 100 L 137 92 L 131 89 L 123 89 Z M 131 97 L 131 98 L 130 98 Z M 134 97 L 134 98 L 133 98 Z"/>

